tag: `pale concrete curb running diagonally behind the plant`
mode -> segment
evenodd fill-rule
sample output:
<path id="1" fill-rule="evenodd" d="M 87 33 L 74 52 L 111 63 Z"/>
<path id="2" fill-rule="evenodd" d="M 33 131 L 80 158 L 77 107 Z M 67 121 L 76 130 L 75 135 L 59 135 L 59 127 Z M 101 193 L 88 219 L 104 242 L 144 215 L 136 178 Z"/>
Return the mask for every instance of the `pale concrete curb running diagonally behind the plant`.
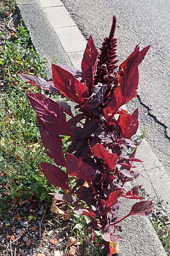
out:
<path id="1" fill-rule="evenodd" d="M 55 58 L 59 64 L 73 64 L 80 69 L 86 40 L 63 3 L 59 0 L 19 0 L 18 7 L 37 53 L 46 59 L 48 75 Z M 137 157 L 143 160 L 137 165 L 137 171 L 141 173 L 137 182 L 144 184 L 151 198 L 164 199 L 164 207 L 170 212 L 170 179 L 145 140 L 139 147 Z M 126 213 L 130 204 L 124 209 Z M 124 221 L 122 228 L 121 256 L 167 255 L 147 217 L 131 217 L 131 220 Z"/>

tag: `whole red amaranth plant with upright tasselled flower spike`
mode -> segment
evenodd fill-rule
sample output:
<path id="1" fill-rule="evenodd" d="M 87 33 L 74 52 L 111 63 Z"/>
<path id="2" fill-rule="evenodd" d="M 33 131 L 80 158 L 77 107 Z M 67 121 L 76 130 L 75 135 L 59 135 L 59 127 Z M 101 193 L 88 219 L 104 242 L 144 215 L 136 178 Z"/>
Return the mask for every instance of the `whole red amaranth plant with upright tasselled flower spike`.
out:
<path id="1" fill-rule="evenodd" d="M 27 94 L 37 114 L 46 154 L 54 160 L 54 164 L 41 163 L 41 169 L 50 183 L 63 190 L 63 194 L 54 197 L 73 204 L 77 214 L 90 218 L 88 227 L 92 229 L 92 239 L 95 241 L 94 230 L 101 230 L 109 256 L 116 253 L 119 223 L 131 215 L 148 215 L 153 209 L 151 201 L 143 201 L 144 197 L 139 196 L 141 186 L 129 191 L 124 187 L 126 182 L 138 177 L 132 164 L 141 161 L 135 158 L 138 143 L 133 139 L 139 125 L 138 109 L 133 114 L 121 109 L 137 95 L 138 65 L 149 46 L 142 51 L 139 46 L 135 47 L 117 68 L 115 28 L 113 16 L 111 33 L 104 39 L 100 54 L 90 36 L 82 71 L 53 64 L 53 81 L 20 75 L 24 81 L 60 93 L 76 103 L 78 114 L 73 114 L 67 102 L 57 102 L 42 94 Z M 69 121 L 66 114 L 70 116 Z M 65 155 L 60 135 L 70 137 L 71 144 Z M 66 167 L 66 171 L 58 166 Z M 72 189 L 70 176 L 75 177 Z M 140 200 L 122 218 L 118 217 L 121 197 Z"/>

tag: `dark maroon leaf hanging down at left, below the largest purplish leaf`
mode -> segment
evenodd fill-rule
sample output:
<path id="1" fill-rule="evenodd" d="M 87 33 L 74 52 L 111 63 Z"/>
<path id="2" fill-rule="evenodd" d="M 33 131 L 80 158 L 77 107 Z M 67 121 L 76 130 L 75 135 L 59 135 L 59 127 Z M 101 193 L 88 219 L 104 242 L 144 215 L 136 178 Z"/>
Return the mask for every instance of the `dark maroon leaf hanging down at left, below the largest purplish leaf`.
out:
<path id="1" fill-rule="evenodd" d="M 46 129 L 44 119 L 37 116 L 42 143 L 47 150 L 46 154 L 59 166 L 65 166 L 65 158 L 62 153 L 62 141 L 58 135 L 50 134 Z"/>

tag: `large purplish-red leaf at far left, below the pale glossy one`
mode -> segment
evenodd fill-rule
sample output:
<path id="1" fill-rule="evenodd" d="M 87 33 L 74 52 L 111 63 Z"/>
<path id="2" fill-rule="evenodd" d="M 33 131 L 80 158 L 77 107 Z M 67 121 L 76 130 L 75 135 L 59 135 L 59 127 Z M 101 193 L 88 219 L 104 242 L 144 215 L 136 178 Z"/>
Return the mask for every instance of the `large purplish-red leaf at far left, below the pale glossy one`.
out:
<path id="1" fill-rule="evenodd" d="M 27 93 L 27 97 L 37 115 L 44 119 L 46 130 L 53 135 L 72 135 L 63 108 L 56 101 L 36 93 Z"/>

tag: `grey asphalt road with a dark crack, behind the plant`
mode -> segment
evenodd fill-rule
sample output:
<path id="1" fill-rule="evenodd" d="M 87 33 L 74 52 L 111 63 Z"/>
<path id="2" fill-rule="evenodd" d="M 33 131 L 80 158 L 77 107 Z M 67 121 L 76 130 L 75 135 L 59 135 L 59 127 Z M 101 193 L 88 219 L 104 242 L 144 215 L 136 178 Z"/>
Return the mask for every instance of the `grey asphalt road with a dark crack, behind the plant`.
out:
<path id="1" fill-rule="evenodd" d="M 117 55 L 124 60 L 140 43 L 151 44 L 140 66 L 138 99 L 129 105 L 139 108 L 146 139 L 170 175 L 170 1 L 165 0 L 62 0 L 88 39 L 100 47 L 109 35 L 112 16 L 117 16 Z"/>

